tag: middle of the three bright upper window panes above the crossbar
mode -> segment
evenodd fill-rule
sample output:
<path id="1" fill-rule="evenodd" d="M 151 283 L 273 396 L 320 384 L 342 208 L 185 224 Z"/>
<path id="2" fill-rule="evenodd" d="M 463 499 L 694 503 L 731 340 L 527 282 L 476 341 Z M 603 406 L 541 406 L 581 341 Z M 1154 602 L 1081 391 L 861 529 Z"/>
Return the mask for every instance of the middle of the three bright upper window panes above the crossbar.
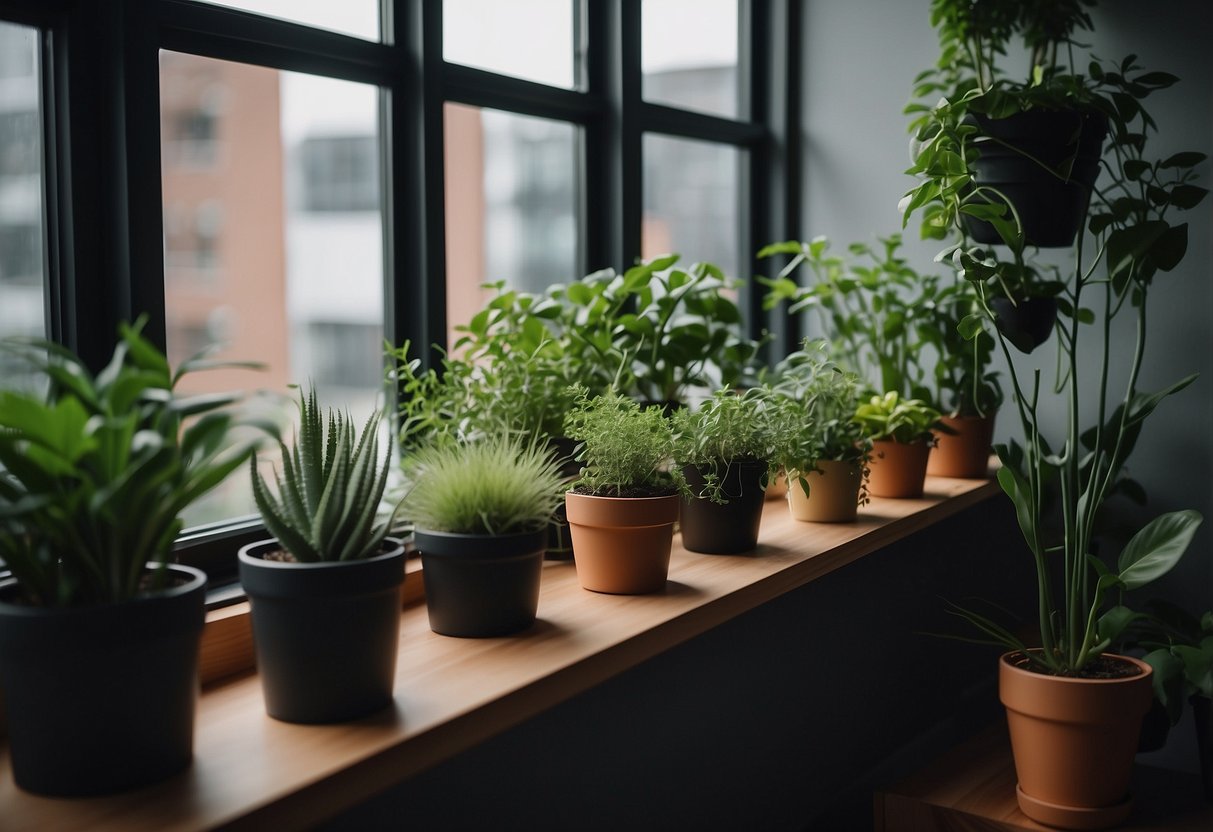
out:
<path id="1" fill-rule="evenodd" d="M 573 89 L 576 0 L 444 0 L 443 57 L 451 63 Z"/>

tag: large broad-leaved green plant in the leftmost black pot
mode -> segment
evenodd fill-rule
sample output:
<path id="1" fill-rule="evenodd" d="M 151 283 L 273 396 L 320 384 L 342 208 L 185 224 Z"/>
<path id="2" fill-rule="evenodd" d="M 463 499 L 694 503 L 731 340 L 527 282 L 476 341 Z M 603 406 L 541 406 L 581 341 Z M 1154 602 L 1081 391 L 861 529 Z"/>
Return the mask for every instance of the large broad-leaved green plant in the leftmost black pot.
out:
<path id="1" fill-rule="evenodd" d="M 181 395 L 204 357 L 173 371 L 141 331 L 119 327 L 93 375 L 46 341 L 7 342 L 45 394 L 0 391 L 0 557 L 27 602 L 78 606 L 164 586 L 182 511 L 252 452 L 229 443 L 237 395 Z M 154 566 L 148 571 L 149 566 Z"/>

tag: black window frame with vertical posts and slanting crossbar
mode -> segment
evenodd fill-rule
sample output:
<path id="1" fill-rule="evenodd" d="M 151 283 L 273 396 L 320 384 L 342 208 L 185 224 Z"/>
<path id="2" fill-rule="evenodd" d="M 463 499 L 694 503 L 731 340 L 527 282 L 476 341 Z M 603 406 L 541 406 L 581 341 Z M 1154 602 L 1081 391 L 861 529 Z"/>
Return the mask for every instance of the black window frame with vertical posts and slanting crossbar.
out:
<path id="1" fill-rule="evenodd" d="M 769 264 L 753 261 L 757 247 L 797 235 L 801 223 L 802 0 L 739 0 L 736 119 L 644 101 L 642 0 L 571 1 L 576 89 L 444 61 L 442 0 L 381 0 L 380 42 L 195 0 L 0 0 L 0 19 L 41 33 L 47 334 L 95 370 L 119 321 L 138 314 L 165 344 L 160 50 L 382 90 L 383 323 L 392 343 L 445 338 L 446 102 L 580 127 L 582 273 L 639 256 L 645 135 L 745 150 L 738 239 L 744 270 L 762 273 Z M 774 334 L 771 354 L 797 342 L 796 323 L 765 313 L 759 292 L 745 286 L 741 302 L 753 335 Z M 438 352 L 422 359 L 434 363 Z M 234 576 L 237 547 L 263 534 L 256 522 L 193 529 L 178 557 L 221 583 Z"/>

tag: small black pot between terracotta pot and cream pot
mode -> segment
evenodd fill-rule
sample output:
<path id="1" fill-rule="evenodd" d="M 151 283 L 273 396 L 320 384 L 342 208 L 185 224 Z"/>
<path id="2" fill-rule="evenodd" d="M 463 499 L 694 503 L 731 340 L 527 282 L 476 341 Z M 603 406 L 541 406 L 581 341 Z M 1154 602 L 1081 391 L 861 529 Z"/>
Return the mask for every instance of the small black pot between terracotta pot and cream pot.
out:
<path id="1" fill-rule="evenodd" d="M 684 466 L 683 474 L 693 491 L 704 488 L 704 475 L 695 466 Z M 683 547 L 702 554 L 739 554 L 758 546 L 765 474 L 765 462 L 734 462 L 723 477 L 727 503 L 701 497 L 683 500 Z"/>

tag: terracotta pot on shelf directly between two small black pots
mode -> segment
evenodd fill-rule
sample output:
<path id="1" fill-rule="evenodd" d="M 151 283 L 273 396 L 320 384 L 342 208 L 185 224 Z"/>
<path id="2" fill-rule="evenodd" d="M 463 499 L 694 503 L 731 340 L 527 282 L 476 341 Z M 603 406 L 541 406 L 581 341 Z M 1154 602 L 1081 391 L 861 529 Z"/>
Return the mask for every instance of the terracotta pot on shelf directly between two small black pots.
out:
<path id="1" fill-rule="evenodd" d="M 664 589 L 679 502 L 676 494 L 594 497 L 569 491 L 565 507 L 581 586 L 621 595 Z"/>

